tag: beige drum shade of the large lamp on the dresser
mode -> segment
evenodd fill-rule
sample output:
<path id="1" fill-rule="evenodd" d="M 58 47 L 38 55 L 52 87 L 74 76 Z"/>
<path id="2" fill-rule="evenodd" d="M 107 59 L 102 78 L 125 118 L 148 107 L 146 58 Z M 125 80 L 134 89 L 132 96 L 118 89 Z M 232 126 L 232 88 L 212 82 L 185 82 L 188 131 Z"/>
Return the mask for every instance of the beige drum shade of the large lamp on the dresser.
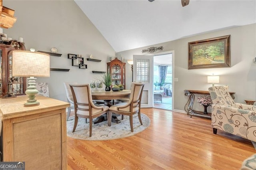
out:
<path id="1" fill-rule="evenodd" d="M 12 76 L 50 77 L 50 55 L 32 51 L 13 51 Z"/>

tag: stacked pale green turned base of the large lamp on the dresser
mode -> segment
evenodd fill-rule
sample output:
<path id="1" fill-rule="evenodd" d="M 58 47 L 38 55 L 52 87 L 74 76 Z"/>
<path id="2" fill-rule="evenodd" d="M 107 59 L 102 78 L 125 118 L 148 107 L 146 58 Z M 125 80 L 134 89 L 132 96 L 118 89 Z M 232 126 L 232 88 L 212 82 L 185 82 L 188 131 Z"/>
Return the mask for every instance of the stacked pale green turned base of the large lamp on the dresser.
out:
<path id="1" fill-rule="evenodd" d="M 36 94 L 38 90 L 36 89 L 36 78 L 29 77 L 28 78 L 28 89 L 25 91 L 26 95 L 28 95 L 27 103 L 24 103 L 24 107 L 38 106 L 40 103 L 36 101 Z"/>

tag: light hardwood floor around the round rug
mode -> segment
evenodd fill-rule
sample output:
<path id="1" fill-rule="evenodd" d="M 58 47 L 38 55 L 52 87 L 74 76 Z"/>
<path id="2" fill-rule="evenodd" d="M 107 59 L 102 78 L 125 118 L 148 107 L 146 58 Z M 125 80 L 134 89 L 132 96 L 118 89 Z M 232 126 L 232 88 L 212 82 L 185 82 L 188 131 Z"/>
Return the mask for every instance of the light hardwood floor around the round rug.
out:
<path id="1" fill-rule="evenodd" d="M 68 137 L 68 170 L 238 170 L 255 153 L 249 140 L 220 130 L 213 134 L 208 118 L 152 108 L 142 113 L 150 118 L 150 127 L 128 138 Z"/>

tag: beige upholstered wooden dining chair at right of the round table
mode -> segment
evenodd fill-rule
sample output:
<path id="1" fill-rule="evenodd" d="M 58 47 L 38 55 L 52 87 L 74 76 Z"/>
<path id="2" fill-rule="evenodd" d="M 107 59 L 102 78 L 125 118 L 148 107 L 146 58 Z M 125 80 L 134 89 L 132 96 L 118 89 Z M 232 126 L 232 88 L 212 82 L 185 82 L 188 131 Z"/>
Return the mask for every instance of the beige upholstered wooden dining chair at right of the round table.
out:
<path id="1" fill-rule="evenodd" d="M 118 115 L 122 115 L 122 120 L 124 119 L 124 115 L 128 115 L 130 117 L 130 127 L 133 132 L 133 122 L 132 116 L 138 113 L 140 124 L 142 125 L 141 117 L 140 117 L 140 103 L 142 91 L 144 88 L 144 83 L 134 83 L 132 82 L 131 87 L 131 95 L 130 99 L 127 103 L 118 103 L 109 108 L 109 117 L 108 117 L 108 126 L 111 126 L 111 115 L 112 113 L 116 113 Z"/>

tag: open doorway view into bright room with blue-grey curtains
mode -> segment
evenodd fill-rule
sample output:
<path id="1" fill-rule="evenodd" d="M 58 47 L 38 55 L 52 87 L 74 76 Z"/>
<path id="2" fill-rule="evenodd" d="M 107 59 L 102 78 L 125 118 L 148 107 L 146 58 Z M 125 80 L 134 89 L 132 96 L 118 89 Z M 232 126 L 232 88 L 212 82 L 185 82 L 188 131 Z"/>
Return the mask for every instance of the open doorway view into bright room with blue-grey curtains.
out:
<path id="1" fill-rule="evenodd" d="M 154 55 L 154 108 L 172 110 L 172 53 Z"/>

